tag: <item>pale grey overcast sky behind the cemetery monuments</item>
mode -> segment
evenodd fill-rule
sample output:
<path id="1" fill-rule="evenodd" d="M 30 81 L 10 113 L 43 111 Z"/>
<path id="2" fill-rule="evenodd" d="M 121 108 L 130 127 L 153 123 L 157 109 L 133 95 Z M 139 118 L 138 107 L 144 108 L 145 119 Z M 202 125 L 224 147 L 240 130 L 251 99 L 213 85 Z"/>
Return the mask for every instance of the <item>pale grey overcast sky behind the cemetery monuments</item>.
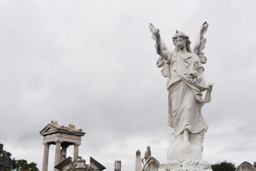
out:
<path id="1" fill-rule="evenodd" d="M 194 42 L 207 21 L 204 49 L 212 101 L 203 160 L 253 163 L 256 142 L 255 1 L 0 1 L 0 143 L 41 170 L 39 132 L 75 124 L 79 156 L 114 170 L 135 169 L 151 146 L 166 160 L 166 78 L 156 67 L 153 23 L 169 49 L 176 29 Z M 73 146 L 68 156 L 73 157 Z M 53 170 L 55 146 L 50 146 Z"/>

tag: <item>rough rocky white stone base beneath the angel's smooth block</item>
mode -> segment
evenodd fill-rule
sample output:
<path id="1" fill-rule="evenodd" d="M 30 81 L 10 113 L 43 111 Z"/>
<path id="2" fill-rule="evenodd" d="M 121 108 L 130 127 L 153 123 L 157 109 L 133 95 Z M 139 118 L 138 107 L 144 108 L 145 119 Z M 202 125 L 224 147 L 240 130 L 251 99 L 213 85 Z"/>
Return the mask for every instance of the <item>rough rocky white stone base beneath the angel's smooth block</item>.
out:
<path id="1" fill-rule="evenodd" d="M 212 171 L 208 162 L 203 160 L 170 160 L 162 163 L 158 171 Z"/>

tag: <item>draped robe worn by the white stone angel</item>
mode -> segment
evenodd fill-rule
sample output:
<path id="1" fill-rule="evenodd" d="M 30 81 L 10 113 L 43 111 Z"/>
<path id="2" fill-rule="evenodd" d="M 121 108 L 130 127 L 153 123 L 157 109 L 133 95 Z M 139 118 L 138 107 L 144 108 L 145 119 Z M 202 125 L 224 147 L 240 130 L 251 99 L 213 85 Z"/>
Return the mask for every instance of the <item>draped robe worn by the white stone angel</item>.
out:
<path id="1" fill-rule="evenodd" d="M 201 114 L 204 103 L 202 91 L 207 87 L 202 82 L 195 83 L 185 77 L 185 73 L 197 72 L 202 67 L 195 53 L 181 54 L 169 52 L 165 67 L 168 72 L 168 125 L 173 127 L 173 134 L 180 135 L 184 130 L 192 134 L 203 135 L 208 128 Z"/>

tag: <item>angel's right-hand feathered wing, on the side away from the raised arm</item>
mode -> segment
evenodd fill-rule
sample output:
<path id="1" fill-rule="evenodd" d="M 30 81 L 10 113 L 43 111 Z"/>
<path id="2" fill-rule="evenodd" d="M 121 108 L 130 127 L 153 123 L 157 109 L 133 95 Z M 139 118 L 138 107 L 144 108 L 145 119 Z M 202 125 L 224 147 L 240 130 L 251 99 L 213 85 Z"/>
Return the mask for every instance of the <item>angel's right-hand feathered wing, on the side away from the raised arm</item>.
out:
<path id="1" fill-rule="evenodd" d="M 204 53 L 202 52 L 204 47 L 205 47 L 205 43 L 206 43 L 206 38 L 204 38 L 204 34 L 207 31 L 208 28 L 208 23 L 205 22 L 201 29 L 199 30 L 199 33 L 197 35 L 196 41 L 195 41 L 195 46 L 193 48 L 193 52 L 195 54 L 198 55 L 201 63 L 206 63 L 207 58 L 204 56 Z"/>

